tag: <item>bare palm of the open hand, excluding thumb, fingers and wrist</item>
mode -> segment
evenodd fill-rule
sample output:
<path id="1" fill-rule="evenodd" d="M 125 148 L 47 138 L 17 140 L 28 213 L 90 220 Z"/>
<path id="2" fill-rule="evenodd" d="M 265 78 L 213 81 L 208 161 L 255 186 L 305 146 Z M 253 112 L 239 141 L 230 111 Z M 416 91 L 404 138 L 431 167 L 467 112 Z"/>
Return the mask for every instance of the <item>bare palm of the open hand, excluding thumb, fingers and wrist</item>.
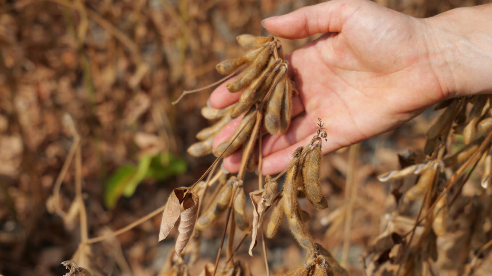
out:
<path id="1" fill-rule="evenodd" d="M 326 122 L 328 151 L 394 128 L 443 98 L 413 20 L 380 6 L 358 9 L 341 32 L 291 55 L 306 119 Z"/>

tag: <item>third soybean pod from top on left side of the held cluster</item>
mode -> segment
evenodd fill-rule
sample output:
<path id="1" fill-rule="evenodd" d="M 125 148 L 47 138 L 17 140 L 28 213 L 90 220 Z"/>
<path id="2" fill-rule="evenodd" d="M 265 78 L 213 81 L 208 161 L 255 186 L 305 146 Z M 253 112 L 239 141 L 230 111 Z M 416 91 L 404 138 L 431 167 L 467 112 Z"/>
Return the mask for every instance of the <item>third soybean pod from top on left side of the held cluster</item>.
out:
<path id="1" fill-rule="evenodd" d="M 272 45 L 269 45 L 258 54 L 258 57 L 256 57 L 256 59 L 252 61 L 241 74 L 239 74 L 237 79 L 226 84 L 227 90 L 231 93 L 239 92 L 250 84 L 263 71 L 271 54 Z"/>

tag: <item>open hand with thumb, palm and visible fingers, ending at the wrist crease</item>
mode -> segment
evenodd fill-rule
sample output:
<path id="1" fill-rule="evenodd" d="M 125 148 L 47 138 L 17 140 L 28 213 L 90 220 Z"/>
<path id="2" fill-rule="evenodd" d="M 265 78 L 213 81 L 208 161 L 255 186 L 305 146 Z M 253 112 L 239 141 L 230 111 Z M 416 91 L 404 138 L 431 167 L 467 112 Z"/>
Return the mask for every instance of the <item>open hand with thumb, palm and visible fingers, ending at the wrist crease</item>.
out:
<path id="1" fill-rule="evenodd" d="M 418 19 L 370 1 L 332 0 L 274 21 L 277 24 L 268 24 L 267 30 L 286 38 L 333 32 L 289 57 L 299 90 L 293 115 L 305 114 L 295 118 L 285 134 L 265 138 L 264 174 L 287 167 L 294 150 L 309 143 L 318 117 L 328 134 L 323 152 L 329 153 L 390 130 L 447 96 L 431 68 L 424 23 Z M 211 104 L 223 108 L 238 97 L 222 85 L 212 93 Z M 232 122 L 226 126 L 214 145 L 228 139 L 236 127 Z M 241 153 L 234 153 L 223 164 L 236 172 L 240 160 Z"/>

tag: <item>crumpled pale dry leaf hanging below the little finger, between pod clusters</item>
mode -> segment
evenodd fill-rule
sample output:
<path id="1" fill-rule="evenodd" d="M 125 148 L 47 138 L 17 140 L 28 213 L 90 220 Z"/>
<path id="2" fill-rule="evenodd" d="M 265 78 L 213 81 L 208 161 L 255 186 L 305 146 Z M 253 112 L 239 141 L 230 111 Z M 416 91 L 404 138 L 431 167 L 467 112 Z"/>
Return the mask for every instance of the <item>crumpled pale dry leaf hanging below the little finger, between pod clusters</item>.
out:
<path id="1" fill-rule="evenodd" d="M 275 194 L 277 192 L 277 182 L 268 181 L 265 187 L 261 190 L 252 191 L 249 193 L 251 202 L 253 203 L 253 224 L 251 229 L 251 244 L 249 245 L 249 255 L 253 255 L 253 247 L 256 244 L 256 235 L 261 226 L 261 221 L 267 207 L 274 203 Z"/>

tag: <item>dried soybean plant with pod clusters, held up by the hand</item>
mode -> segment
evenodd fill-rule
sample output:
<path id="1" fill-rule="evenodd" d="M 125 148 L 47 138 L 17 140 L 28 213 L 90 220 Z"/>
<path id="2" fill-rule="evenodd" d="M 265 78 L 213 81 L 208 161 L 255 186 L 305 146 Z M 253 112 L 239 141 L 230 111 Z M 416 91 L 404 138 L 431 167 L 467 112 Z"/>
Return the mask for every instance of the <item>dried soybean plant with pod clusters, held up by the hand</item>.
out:
<path id="1" fill-rule="evenodd" d="M 159 241 L 167 237 L 169 231 L 179 220 L 177 223 L 179 235 L 175 245 L 177 259 L 174 258 L 172 262 L 182 266 L 183 262 L 179 259 L 185 254 L 191 254 L 191 259 L 196 260 L 201 237 L 200 231 L 214 225 L 222 215 L 226 214 L 226 224 L 215 264 L 207 265 L 203 272 L 204 275 L 250 275 L 244 262 L 232 261 L 233 255 L 241 245 L 235 248 L 233 244 L 236 226 L 245 234 L 241 243 L 248 235 L 251 235 L 250 255 L 252 255 L 256 238 L 260 233 L 266 271 L 269 274 L 261 226 L 263 216 L 270 207 L 273 207 L 266 236 L 268 238 L 275 236 L 285 216 L 292 235 L 299 245 L 308 251 L 312 259 L 305 266 L 293 268 L 285 275 L 334 275 L 333 267 L 337 271 L 335 275 L 346 275 L 346 271 L 338 265 L 331 254 L 314 243 L 304 225 L 310 216 L 300 208 L 298 203 L 298 198 L 307 197 L 316 209 L 328 207 L 328 201 L 321 192 L 319 178 L 322 157 L 321 142 L 323 138 L 326 140 L 323 124 L 319 121 L 316 135 L 312 137 L 310 143 L 293 153 L 290 165 L 275 178 L 267 176 L 266 183 L 263 185 L 262 152 L 259 150 L 263 135 L 262 128 L 265 127 L 270 134 L 287 131 L 292 117 L 292 97 L 297 90 L 294 82 L 287 75 L 288 62 L 284 60 L 280 42 L 276 37 L 256 37 L 243 34 L 238 36 L 237 40 L 248 51 L 241 58 L 218 63 L 217 71 L 227 76 L 213 85 L 237 75 L 234 80 L 226 84 L 226 87 L 231 93 L 240 92 L 240 99 L 237 103 L 220 110 L 211 107 L 202 108 L 202 115 L 205 118 L 218 119 L 218 121 L 198 132 L 196 137 L 200 142 L 191 145 L 188 153 L 196 157 L 214 153 L 217 158 L 195 184 L 174 189 L 162 215 Z M 185 91 L 182 96 L 199 90 Z M 212 143 L 215 135 L 235 118 L 238 118 L 240 123 L 232 137 L 213 149 Z M 215 168 L 222 157 L 241 148 L 243 155 L 237 175 L 225 175 L 221 170 L 215 173 Z M 251 216 L 246 214 L 243 181 L 246 171 L 254 171 L 256 168 L 259 172 L 258 189 L 249 193 L 254 209 L 252 223 L 250 223 L 248 217 Z M 202 181 L 207 174 L 208 179 Z M 284 174 L 283 188 L 277 192 L 277 180 Z M 215 190 L 208 193 L 209 187 L 214 185 Z M 208 201 L 206 201 L 207 198 L 209 198 Z M 207 203 L 204 204 L 204 202 Z M 217 268 L 227 231 L 229 234 L 226 265 L 224 268 Z M 192 242 L 189 242 L 190 239 Z M 320 250 L 326 253 L 322 254 Z"/>

